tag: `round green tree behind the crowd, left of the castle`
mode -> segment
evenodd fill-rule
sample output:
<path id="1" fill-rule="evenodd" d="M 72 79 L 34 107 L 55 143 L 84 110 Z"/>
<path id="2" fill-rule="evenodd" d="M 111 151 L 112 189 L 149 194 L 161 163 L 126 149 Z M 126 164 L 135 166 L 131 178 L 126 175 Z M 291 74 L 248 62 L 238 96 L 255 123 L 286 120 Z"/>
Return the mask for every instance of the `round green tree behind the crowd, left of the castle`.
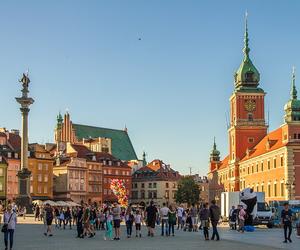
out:
<path id="1" fill-rule="evenodd" d="M 183 177 L 178 182 L 178 189 L 175 193 L 175 200 L 177 203 L 187 203 L 188 205 L 198 203 L 199 195 L 200 190 L 192 177 Z"/>

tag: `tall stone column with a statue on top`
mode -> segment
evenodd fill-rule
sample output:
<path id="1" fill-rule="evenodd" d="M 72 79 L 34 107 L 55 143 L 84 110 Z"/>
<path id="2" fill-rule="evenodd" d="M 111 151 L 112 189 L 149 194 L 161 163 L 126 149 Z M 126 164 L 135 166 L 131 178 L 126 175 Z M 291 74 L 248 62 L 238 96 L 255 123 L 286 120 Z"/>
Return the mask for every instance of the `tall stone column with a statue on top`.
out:
<path id="1" fill-rule="evenodd" d="M 22 96 L 16 97 L 16 101 L 21 105 L 22 113 L 22 141 L 21 141 L 21 169 L 17 176 L 19 181 L 19 195 L 17 197 L 17 205 L 26 207 L 27 212 L 31 209 L 31 196 L 30 196 L 30 176 L 31 171 L 28 169 L 28 113 L 29 106 L 33 104 L 34 100 L 28 97 L 28 87 L 30 79 L 27 74 L 23 74 L 23 77 L 19 82 L 22 84 Z"/>

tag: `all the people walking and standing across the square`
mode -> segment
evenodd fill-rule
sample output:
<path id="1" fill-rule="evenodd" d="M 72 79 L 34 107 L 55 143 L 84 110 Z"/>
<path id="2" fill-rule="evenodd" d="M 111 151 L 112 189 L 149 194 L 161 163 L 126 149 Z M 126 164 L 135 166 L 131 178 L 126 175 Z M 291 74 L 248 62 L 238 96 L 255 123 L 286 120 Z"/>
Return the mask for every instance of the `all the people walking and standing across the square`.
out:
<path id="1" fill-rule="evenodd" d="M 284 228 L 284 242 L 292 242 L 292 213 L 288 204 L 285 204 L 282 211 L 282 225 Z M 182 231 L 198 232 L 203 231 L 205 240 L 220 240 L 218 233 L 218 224 L 220 222 L 220 208 L 216 205 L 216 201 L 211 204 L 203 204 L 201 207 L 192 204 L 190 207 L 183 205 L 157 206 L 153 201 L 146 208 L 129 205 L 128 207 L 120 207 L 117 202 L 113 204 L 104 204 L 99 206 L 97 203 L 84 203 L 76 207 L 56 207 L 49 203 L 43 206 L 35 205 L 33 207 L 35 220 L 40 220 L 44 224 L 44 235 L 53 236 L 53 227 L 56 230 L 72 229 L 76 227 L 77 238 L 93 238 L 97 231 L 104 240 L 120 240 L 121 223 L 126 225 L 127 238 L 142 237 L 142 226 L 147 227 L 147 236 L 154 237 L 155 227 L 161 227 L 161 236 L 175 236 L 175 228 Z M 11 250 L 14 241 L 14 231 L 17 224 L 18 215 L 22 209 L 18 208 L 14 203 L 8 203 L 5 207 L 0 204 L 0 211 L 3 212 L 3 226 L 5 249 Z M 0 215 L 1 216 L 1 215 Z M 231 229 L 237 229 L 241 233 L 244 232 L 244 222 L 246 212 L 243 206 L 236 209 L 232 207 L 230 211 Z M 212 227 L 212 235 L 209 237 L 209 228 Z M 237 228 L 238 226 L 238 228 Z M 135 230 L 134 230 L 135 229 Z M 8 244 L 9 243 L 9 244 Z"/>

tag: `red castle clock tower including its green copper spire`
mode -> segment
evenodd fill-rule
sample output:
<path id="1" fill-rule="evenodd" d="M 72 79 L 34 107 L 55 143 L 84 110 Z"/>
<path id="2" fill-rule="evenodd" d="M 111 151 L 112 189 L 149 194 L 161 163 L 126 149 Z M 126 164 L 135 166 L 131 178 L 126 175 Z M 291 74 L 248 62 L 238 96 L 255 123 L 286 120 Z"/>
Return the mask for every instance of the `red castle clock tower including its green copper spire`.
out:
<path id="1" fill-rule="evenodd" d="M 234 92 L 230 97 L 229 176 L 231 190 L 238 191 L 241 160 L 267 134 L 265 92 L 259 88 L 260 74 L 249 57 L 247 14 L 245 20 L 244 58 L 234 75 Z"/>

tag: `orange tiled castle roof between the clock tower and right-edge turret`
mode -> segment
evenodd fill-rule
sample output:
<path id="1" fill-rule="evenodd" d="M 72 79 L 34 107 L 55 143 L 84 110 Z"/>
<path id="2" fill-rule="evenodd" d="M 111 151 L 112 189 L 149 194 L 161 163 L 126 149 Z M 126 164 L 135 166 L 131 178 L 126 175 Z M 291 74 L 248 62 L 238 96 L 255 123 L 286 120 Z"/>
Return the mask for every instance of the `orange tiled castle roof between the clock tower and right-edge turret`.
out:
<path id="1" fill-rule="evenodd" d="M 267 147 L 267 144 L 269 146 Z M 278 128 L 267 134 L 241 161 L 246 161 L 262 154 L 284 147 L 287 143 L 282 141 L 282 128 Z"/>

